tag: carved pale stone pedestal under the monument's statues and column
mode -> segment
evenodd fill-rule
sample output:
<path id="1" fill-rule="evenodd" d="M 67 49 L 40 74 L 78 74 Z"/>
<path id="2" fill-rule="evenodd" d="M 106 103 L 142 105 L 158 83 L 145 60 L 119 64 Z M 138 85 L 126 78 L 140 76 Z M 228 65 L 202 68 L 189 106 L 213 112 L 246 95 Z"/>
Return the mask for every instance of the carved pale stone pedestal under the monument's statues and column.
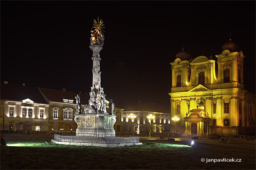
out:
<path id="1" fill-rule="evenodd" d="M 75 114 L 75 122 L 78 124 L 76 136 L 114 137 L 115 115 L 104 113 Z"/>

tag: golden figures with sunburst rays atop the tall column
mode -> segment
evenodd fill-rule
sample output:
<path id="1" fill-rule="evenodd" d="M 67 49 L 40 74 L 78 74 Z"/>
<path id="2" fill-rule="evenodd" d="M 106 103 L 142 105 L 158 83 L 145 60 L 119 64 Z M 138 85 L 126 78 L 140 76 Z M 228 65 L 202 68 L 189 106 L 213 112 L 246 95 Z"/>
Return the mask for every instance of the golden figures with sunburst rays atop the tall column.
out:
<path id="1" fill-rule="evenodd" d="M 104 33 L 105 32 L 103 30 L 103 27 L 105 24 L 103 23 L 103 20 L 101 19 L 99 21 L 99 17 L 98 17 L 98 22 L 94 19 L 93 20 L 93 28 L 95 28 L 93 30 L 93 28 L 91 29 L 91 43 L 90 45 L 99 45 L 99 46 L 103 46 L 104 40 L 105 40 L 105 36 Z"/>

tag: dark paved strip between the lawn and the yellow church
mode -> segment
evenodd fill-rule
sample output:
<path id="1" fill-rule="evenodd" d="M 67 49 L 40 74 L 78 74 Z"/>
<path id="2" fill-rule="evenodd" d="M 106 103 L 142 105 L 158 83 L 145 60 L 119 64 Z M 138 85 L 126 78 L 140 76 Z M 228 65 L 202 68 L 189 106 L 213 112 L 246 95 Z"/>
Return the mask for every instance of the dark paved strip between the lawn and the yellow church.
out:
<path id="1" fill-rule="evenodd" d="M 167 138 L 165 139 L 159 139 L 159 138 L 140 138 L 140 140 L 148 140 L 148 141 L 163 141 L 163 142 L 169 142 Z M 246 141 L 245 139 L 230 139 L 230 143 L 225 143 L 225 141 L 218 141 L 217 139 L 208 139 L 208 138 L 202 138 L 202 139 L 192 139 L 191 138 L 175 138 L 175 142 L 191 142 L 194 141 L 196 143 L 204 143 L 207 145 L 215 145 L 215 146 L 224 146 L 228 148 L 234 148 L 234 149 L 242 149 L 242 150 L 249 150 L 249 151 L 255 151 L 256 150 L 256 142 L 255 141 Z M 173 143 L 173 142 L 170 142 Z"/>

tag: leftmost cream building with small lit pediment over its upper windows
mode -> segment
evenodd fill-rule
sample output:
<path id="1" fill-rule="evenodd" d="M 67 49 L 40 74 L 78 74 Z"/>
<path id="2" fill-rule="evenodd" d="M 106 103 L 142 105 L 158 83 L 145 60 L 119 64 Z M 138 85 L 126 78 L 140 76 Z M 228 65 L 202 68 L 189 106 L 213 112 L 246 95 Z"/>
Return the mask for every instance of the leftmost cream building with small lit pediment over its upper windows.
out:
<path id="1" fill-rule="evenodd" d="M 49 104 L 37 87 L 1 83 L 1 130 L 48 131 Z M 17 124 L 30 122 L 27 125 Z M 44 123 L 44 124 L 42 124 Z"/>

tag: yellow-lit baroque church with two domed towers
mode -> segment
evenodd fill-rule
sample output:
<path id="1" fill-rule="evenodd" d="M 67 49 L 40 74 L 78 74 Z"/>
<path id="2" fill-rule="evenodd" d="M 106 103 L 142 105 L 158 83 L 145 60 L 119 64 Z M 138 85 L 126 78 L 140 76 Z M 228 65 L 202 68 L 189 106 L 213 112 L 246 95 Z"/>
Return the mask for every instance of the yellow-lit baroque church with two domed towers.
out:
<path id="1" fill-rule="evenodd" d="M 230 38 L 215 56 L 217 66 L 212 56 L 192 59 L 182 49 L 170 63 L 171 113 L 180 118 L 177 133 L 255 135 L 255 95 L 244 89 L 245 55 Z"/>

